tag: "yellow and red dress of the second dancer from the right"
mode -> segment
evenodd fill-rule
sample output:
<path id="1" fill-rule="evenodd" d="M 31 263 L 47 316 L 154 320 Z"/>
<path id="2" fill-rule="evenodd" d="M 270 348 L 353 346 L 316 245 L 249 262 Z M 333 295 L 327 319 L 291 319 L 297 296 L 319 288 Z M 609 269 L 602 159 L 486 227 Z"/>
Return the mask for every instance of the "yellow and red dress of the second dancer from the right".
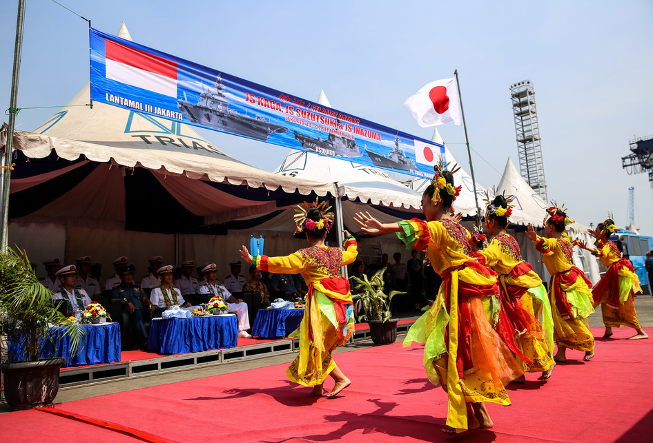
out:
<path id="1" fill-rule="evenodd" d="M 558 346 L 578 351 L 592 351 L 594 336 L 587 329 L 592 307 L 592 284 L 581 269 L 572 264 L 572 245 L 564 238 L 537 236 L 535 247 L 551 274 L 549 301 Z"/>

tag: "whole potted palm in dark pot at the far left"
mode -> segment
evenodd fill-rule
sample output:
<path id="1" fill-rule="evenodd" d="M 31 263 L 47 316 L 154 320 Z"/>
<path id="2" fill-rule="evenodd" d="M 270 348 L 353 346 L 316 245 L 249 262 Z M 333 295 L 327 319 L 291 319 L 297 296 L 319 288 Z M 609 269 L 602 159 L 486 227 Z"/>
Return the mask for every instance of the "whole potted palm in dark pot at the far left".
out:
<path id="1" fill-rule="evenodd" d="M 52 329 L 53 325 L 61 328 Z M 52 304 L 52 293 L 41 285 L 25 251 L 8 248 L 0 254 L 0 330 L 6 353 L 0 369 L 4 396 L 11 409 L 51 404 L 59 391 L 63 358 L 41 360 L 41 346 L 54 334 L 70 336 L 71 352 L 84 333 Z"/>

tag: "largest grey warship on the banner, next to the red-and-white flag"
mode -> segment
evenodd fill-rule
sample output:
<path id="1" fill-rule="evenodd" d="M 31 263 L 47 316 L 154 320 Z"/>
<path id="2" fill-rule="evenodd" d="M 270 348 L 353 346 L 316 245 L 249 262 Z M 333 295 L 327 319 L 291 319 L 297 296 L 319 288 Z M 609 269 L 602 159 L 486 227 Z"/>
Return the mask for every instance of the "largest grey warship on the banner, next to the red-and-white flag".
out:
<path id="1" fill-rule="evenodd" d="M 217 130 L 266 141 L 271 134 L 280 134 L 287 127 L 267 121 L 262 116 L 247 116 L 229 109 L 224 95 L 224 84 L 220 76 L 215 85 L 199 94 L 199 102 L 178 100 L 177 107 L 193 123 L 213 127 Z"/>

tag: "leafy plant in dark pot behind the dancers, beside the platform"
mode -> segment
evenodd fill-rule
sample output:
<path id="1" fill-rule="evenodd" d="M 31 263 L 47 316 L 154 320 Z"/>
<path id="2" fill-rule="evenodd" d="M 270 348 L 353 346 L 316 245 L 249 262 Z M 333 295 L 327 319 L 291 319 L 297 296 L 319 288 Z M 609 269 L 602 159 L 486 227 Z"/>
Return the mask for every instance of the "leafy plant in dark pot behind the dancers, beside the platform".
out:
<path id="1" fill-rule="evenodd" d="M 369 324 L 369 335 L 375 344 L 391 344 L 397 340 L 397 318 L 391 318 L 390 301 L 398 294 L 405 292 L 390 291 L 389 294 L 383 292 L 383 273 L 385 268 L 380 269 L 368 279 L 363 274 L 363 278 L 352 277 L 358 283 L 355 289 L 360 293 L 354 296 L 355 310 L 362 307 L 367 316 Z"/>

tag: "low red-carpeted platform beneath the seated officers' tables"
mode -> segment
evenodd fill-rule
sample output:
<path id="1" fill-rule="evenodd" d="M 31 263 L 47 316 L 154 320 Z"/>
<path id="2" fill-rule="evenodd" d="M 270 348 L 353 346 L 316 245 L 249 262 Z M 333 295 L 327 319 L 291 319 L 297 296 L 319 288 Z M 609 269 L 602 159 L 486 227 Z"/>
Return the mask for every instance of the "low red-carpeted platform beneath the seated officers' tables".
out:
<path id="1" fill-rule="evenodd" d="M 399 320 L 397 332 L 408 331 L 415 320 Z M 351 342 L 369 340 L 367 323 L 355 325 Z M 187 371 L 216 364 L 240 362 L 297 352 L 298 338 L 267 340 L 260 338 L 239 338 L 231 349 L 164 355 L 146 351 L 123 351 L 121 361 L 94 364 L 90 366 L 62 368 L 59 375 L 59 390 L 64 391 L 81 385 L 92 385 L 126 378 L 146 377 L 175 371 Z"/>

